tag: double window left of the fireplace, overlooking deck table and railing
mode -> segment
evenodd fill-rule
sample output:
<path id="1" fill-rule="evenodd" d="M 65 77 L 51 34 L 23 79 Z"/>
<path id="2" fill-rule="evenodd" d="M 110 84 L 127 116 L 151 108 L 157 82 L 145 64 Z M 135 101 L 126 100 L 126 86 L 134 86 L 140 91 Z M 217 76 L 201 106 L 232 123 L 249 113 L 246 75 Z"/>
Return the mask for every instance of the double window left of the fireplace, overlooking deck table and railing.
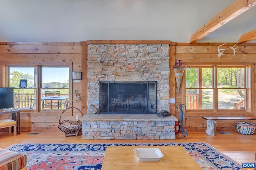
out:
<path id="1" fill-rule="evenodd" d="M 8 86 L 14 87 L 14 107 L 38 111 L 66 109 L 69 101 L 69 70 L 69 66 L 8 66 Z M 26 80 L 27 87 L 19 87 L 20 80 Z"/>

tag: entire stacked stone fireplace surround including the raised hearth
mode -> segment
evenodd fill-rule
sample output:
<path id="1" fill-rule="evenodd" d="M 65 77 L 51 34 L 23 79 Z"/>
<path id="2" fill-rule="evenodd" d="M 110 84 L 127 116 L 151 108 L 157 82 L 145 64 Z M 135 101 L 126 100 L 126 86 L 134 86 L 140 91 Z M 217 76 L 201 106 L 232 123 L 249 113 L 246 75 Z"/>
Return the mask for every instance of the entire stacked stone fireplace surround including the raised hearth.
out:
<path id="1" fill-rule="evenodd" d="M 157 81 L 157 112 L 170 110 L 169 44 L 89 44 L 88 102 L 99 108 L 100 81 Z M 86 114 L 82 139 L 175 139 L 174 116 Z"/>

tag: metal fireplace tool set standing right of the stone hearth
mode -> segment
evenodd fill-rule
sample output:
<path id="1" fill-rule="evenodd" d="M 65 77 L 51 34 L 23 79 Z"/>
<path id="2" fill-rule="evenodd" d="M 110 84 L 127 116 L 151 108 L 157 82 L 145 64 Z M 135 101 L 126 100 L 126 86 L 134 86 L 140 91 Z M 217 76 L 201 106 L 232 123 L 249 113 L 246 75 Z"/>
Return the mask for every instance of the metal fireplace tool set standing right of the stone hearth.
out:
<path id="1" fill-rule="evenodd" d="M 180 109 L 180 114 L 178 113 L 178 108 Z M 179 136 L 181 135 L 181 137 L 185 137 L 185 139 L 187 140 L 186 136 L 188 136 L 188 131 L 186 129 L 186 120 L 187 120 L 186 105 L 179 104 L 176 106 L 176 109 L 177 109 L 177 116 L 178 116 L 178 123 L 179 123 L 179 131 L 177 134 L 177 139 L 179 139 Z M 183 119 L 185 119 L 185 129 L 183 129 Z"/>

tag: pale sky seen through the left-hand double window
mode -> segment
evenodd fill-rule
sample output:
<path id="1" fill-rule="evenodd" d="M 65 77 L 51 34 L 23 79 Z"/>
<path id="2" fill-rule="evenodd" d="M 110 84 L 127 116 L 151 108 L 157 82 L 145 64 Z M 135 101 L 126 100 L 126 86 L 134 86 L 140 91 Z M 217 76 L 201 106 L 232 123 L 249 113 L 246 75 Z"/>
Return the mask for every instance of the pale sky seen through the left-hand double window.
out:
<path id="1" fill-rule="evenodd" d="M 23 74 L 31 74 L 34 77 L 34 67 L 10 67 L 10 72 L 18 71 Z M 10 75 L 11 76 L 11 75 Z M 11 78 L 11 77 L 10 77 Z M 68 82 L 69 68 L 68 67 L 43 67 L 42 83 L 50 82 Z"/>

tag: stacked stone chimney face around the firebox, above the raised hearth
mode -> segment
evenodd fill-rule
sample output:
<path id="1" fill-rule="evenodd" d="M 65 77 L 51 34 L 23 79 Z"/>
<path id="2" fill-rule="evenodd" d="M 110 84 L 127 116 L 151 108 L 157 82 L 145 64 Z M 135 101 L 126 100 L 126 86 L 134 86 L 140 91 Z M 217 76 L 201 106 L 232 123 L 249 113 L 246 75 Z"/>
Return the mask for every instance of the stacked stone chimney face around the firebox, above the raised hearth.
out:
<path id="1" fill-rule="evenodd" d="M 99 108 L 99 81 L 157 81 L 157 111 L 169 110 L 169 44 L 89 44 L 87 106 Z"/>

